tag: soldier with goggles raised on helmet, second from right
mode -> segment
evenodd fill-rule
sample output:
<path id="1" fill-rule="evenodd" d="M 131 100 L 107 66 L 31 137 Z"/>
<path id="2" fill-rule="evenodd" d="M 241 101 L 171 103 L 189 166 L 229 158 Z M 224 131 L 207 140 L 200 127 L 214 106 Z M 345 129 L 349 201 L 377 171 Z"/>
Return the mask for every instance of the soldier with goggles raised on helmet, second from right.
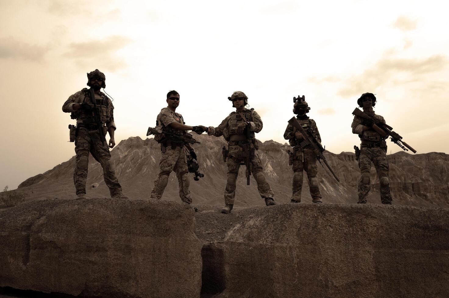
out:
<path id="1" fill-rule="evenodd" d="M 297 101 L 293 105 L 293 112 L 297 115 L 296 119 L 299 124 L 307 132 L 310 139 L 315 139 L 321 143 L 320 133 L 317 128 L 317 124 L 313 119 L 310 119 L 306 113 L 310 111 L 305 96 L 298 96 Z M 312 137 L 312 138 L 311 138 Z M 290 146 L 293 147 L 293 181 L 292 181 L 292 196 L 291 203 L 301 202 L 301 190 L 303 187 L 303 170 L 307 173 L 308 185 L 310 195 L 312 196 L 313 203 L 321 202 L 321 193 L 317 180 L 317 154 L 308 145 L 306 147 L 301 146 L 301 140 L 304 138 L 303 134 L 296 130 L 290 123 L 284 133 L 284 138 L 289 140 Z"/>

